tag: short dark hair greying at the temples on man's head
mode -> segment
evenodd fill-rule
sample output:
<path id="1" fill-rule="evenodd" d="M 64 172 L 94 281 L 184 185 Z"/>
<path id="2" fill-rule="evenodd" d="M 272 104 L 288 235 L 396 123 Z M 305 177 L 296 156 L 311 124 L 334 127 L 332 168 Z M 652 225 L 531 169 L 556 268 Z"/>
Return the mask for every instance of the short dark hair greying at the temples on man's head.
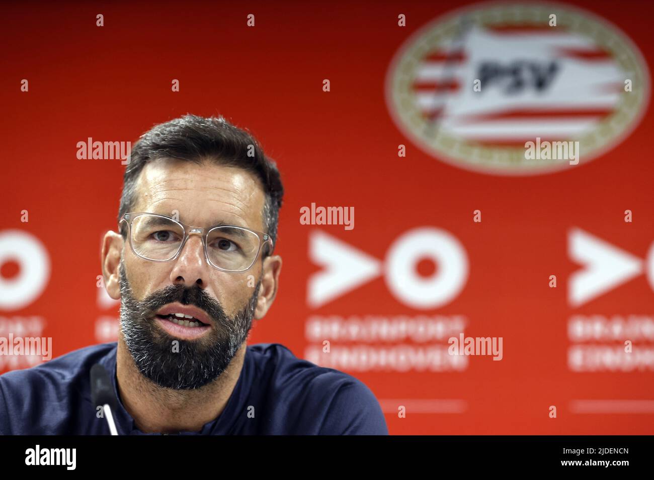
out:
<path id="1" fill-rule="evenodd" d="M 162 158 L 192 161 L 201 165 L 210 159 L 216 165 L 242 168 L 254 174 L 264 187 L 264 228 L 277 245 L 279 209 L 284 197 L 279 170 L 275 161 L 266 157 L 264 150 L 247 129 L 239 129 L 222 116 L 200 117 L 187 114 L 155 125 L 141 135 L 131 148 L 129 163 L 123 177 L 123 191 L 118 209 L 118 221 L 135 206 L 136 182 L 146 163 Z M 124 225 L 121 233 L 127 235 Z M 272 251 L 264 252 L 264 257 Z"/>

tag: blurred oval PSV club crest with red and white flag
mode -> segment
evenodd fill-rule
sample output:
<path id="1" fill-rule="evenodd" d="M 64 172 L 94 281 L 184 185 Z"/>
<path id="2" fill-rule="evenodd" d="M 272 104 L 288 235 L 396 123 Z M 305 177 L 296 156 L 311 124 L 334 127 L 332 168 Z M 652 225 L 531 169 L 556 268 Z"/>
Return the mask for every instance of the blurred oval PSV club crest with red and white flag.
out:
<path id="1" fill-rule="evenodd" d="M 579 142 L 579 163 L 618 144 L 644 113 L 648 82 L 638 48 L 602 18 L 559 4 L 482 3 L 409 37 L 388 69 L 386 99 L 426 153 L 526 175 L 570 168 L 525 155 L 526 142 Z"/>

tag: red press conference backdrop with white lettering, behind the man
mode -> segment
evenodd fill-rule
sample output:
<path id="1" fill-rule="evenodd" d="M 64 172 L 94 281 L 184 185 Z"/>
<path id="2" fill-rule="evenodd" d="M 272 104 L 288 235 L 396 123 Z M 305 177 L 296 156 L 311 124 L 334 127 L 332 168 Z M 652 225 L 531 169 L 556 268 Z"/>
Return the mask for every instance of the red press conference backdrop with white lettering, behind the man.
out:
<path id="1" fill-rule="evenodd" d="M 222 114 L 257 136 L 286 187 L 279 295 L 250 343 L 278 342 L 358 377 L 379 398 L 391 434 L 654 434 L 651 4 L 566 4 L 630 38 L 625 48 L 644 75 L 632 93 L 643 100 L 603 150 L 539 174 L 471 168 L 421 145 L 397 119 L 387 84 L 394 58 L 421 27 L 464 5 L 487 4 L 5 6 L 0 236 L 9 240 L 0 241 L 0 337 L 51 337 L 55 357 L 116 338 L 118 305 L 101 295 L 97 276 L 124 165 L 80 160 L 77 142 L 134 142 L 186 112 Z M 247 27 L 248 14 L 256 26 Z M 354 207 L 354 229 L 301 224 L 300 208 L 312 202 Z M 421 228 L 432 236 L 412 244 Z M 24 264 L 39 258 L 31 244 L 47 261 Z M 436 245 L 436 257 L 415 245 Z M 460 250 L 447 253 L 451 245 Z M 343 255 L 346 268 L 325 274 L 312 249 L 328 264 Z M 34 278 L 10 290 L 26 268 L 43 278 L 42 291 Z M 447 272 L 460 281 L 451 295 L 411 300 L 412 285 Z M 337 291 L 357 274 L 359 284 Z M 316 332 L 318 322 L 341 330 Z M 502 360 L 447 355 L 447 339 L 460 331 L 502 337 Z M 324 340 L 330 353 L 316 354 Z M 622 353 L 627 340 L 632 351 Z M 604 352 L 600 364 L 580 348 Z M 371 362 L 380 355 L 390 355 L 384 366 Z M 31 361 L 0 357 L 0 372 Z"/>

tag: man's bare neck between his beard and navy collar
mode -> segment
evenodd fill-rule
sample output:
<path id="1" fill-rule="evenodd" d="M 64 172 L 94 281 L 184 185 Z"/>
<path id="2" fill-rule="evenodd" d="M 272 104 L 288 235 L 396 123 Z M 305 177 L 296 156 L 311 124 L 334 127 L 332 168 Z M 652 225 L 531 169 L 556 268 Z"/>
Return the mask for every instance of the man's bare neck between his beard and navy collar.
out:
<path id="1" fill-rule="evenodd" d="M 122 335 L 116 354 L 120 399 L 144 433 L 199 432 L 227 405 L 243 368 L 247 343 L 243 342 L 226 370 L 213 382 L 195 390 L 159 387 L 136 367 Z"/>

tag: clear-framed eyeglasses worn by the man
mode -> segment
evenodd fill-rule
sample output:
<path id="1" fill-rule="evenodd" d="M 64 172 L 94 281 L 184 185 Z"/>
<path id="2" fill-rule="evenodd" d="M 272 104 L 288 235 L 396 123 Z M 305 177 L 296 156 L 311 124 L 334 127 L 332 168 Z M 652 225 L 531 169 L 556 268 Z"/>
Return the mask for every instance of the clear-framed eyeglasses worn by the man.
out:
<path id="1" fill-rule="evenodd" d="M 225 272 L 249 270 L 266 244 L 268 253 L 273 251 L 273 240 L 267 233 L 235 225 L 203 229 L 148 212 L 124 214 L 118 222 L 119 229 L 122 222 L 128 226 L 127 235 L 132 251 L 153 262 L 176 259 L 192 234 L 201 236 L 207 263 Z"/>

